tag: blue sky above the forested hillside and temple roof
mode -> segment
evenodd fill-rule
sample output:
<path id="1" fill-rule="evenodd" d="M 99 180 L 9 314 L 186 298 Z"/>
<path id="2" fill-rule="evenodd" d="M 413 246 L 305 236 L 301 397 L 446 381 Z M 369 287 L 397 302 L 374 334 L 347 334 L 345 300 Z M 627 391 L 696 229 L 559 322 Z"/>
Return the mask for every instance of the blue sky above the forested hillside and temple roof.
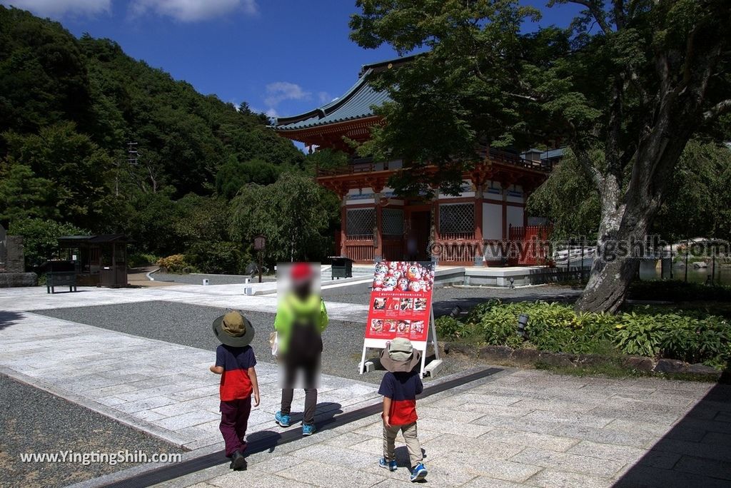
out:
<path id="1" fill-rule="evenodd" d="M 546 0 L 523 0 L 543 7 Z M 0 0 L 59 20 L 76 36 L 118 42 L 130 56 L 202 94 L 295 115 L 355 83 L 360 65 L 394 56 L 348 39 L 355 0 Z M 577 9 L 544 8 L 565 26 Z"/>

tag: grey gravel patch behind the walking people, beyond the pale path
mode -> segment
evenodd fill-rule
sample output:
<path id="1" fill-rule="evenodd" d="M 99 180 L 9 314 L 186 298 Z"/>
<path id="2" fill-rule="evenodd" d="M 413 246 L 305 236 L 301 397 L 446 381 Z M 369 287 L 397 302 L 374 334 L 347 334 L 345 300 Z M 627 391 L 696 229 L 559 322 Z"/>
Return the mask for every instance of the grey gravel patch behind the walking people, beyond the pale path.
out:
<path id="1" fill-rule="evenodd" d="M 179 302 L 138 302 L 120 305 L 61 308 L 39 310 L 35 313 L 56 317 L 80 324 L 104 327 L 118 332 L 145 338 L 164 340 L 211 351 L 219 345 L 211 332 L 213 319 L 225 313 L 222 308 L 190 305 Z M 273 362 L 269 352 L 269 333 L 273 331 L 274 313 L 246 312 L 257 334 L 251 346 L 257 361 Z M 331 320 L 322 336 L 325 352 L 322 355 L 322 371 L 341 378 L 379 383 L 383 372 L 374 371 L 359 375 L 357 364 L 363 348 L 363 328 L 360 322 Z M 375 357 L 376 351 L 371 351 Z M 442 375 L 456 373 L 470 367 L 454 359 L 445 360 Z"/>

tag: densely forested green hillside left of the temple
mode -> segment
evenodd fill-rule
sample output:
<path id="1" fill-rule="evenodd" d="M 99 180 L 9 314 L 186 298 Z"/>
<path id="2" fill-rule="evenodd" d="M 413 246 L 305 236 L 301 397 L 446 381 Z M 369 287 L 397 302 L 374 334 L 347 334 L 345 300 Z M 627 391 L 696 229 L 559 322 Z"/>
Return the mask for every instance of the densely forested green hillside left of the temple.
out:
<path id="1" fill-rule="evenodd" d="M 283 173 L 314 185 L 304 154 L 242 107 L 197 93 L 112 40 L 77 39 L 0 6 L 0 221 L 31 243 L 120 232 L 138 253 L 186 253 L 205 270 L 239 271 L 260 231 L 231 228 L 230 200 Z M 323 205 L 318 230 L 332 235 L 324 226 L 336 212 Z M 48 252 L 29 251 L 29 264 Z"/>

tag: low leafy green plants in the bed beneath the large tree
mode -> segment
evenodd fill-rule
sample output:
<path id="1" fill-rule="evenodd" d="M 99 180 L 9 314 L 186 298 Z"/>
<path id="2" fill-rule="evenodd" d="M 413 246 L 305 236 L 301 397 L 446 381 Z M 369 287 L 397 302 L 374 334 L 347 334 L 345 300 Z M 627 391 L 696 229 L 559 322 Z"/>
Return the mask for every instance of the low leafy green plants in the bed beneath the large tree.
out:
<path id="1" fill-rule="evenodd" d="M 518 317 L 529 316 L 524 343 Z M 502 303 L 491 300 L 474 308 L 466 320 L 441 317 L 444 337 L 479 339 L 496 346 L 534 347 L 570 354 L 632 354 L 720 366 L 731 359 L 731 324 L 708 313 L 654 308 L 610 315 L 577 313 L 569 305 L 546 302 Z"/>

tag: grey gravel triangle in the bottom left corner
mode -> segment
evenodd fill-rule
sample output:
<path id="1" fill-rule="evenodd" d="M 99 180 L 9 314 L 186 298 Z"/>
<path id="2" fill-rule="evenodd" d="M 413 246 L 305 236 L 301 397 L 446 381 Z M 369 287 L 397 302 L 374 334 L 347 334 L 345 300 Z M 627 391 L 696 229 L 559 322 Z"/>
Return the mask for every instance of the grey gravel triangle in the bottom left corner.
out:
<path id="1" fill-rule="evenodd" d="M 0 374 L 0 487 L 64 487 L 132 463 L 21 462 L 21 453 L 177 453 L 181 449 Z"/>

